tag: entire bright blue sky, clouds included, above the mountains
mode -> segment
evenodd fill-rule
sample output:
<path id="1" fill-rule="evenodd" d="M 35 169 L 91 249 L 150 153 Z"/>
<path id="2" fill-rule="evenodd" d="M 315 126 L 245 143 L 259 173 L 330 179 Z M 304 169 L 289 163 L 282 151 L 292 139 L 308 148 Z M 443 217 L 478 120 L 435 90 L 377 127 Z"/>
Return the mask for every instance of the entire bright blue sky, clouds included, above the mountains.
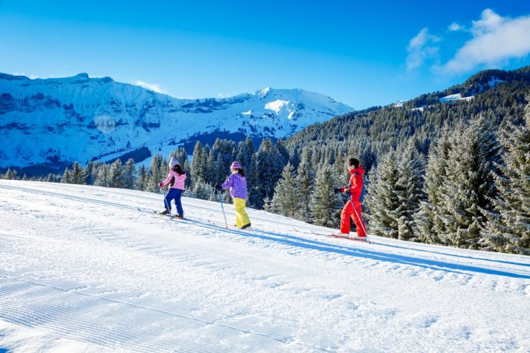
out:
<path id="1" fill-rule="evenodd" d="M 530 1 L 0 0 L 0 72 L 178 98 L 302 88 L 355 109 L 530 64 Z"/>

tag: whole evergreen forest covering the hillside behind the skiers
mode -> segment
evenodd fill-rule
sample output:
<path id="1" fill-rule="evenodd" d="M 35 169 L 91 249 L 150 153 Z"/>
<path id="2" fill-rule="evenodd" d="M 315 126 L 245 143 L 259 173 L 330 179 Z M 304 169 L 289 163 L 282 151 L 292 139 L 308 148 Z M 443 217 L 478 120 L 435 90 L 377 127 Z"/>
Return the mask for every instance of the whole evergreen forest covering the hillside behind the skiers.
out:
<path id="1" fill-rule="evenodd" d="M 187 196 L 218 200 L 213 186 L 238 160 L 247 175 L 250 207 L 337 227 L 345 200 L 333 188 L 346 184 L 345 161 L 357 157 L 367 171 L 369 233 L 528 255 L 529 71 L 481 73 L 466 85 L 404 106 L 356 111 L 276 144 L 264 139 L 257 149 L 249 137 L 239 143 L 217 139 L 213 146 L 197 142 L 191 161 L 184 148 L 167 158 L 175 156 L 187 172 Z M 503 82 L 484 90 L 493 76 Z M 475 95 L 470 101 L 439 102 L 458 90 Z M 426 102 L 430 105 L 422 105 Z M 76 162 L 62 175 L 41 180 L 158 192 L 167 161 L 155 155 L 149 167 L 132 159 L 89 162 L 84 168 Z M 1 177 L 18 178 L 11 169 Z M 230 202 L 229 195 L 223 197 Z"/>

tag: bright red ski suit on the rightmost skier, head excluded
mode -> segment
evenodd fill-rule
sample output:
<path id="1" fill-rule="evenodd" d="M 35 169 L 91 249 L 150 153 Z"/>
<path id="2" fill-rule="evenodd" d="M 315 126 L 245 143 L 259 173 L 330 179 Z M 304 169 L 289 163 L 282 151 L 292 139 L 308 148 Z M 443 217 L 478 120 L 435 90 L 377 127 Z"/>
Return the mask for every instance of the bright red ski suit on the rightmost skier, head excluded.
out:
<path id="1" fill-rule="evenodd" d="M 350 170 L 350 183 L 343 188 L 340 188 L 341 192 L 349 191 L 350 197 L 344 205 L 343 212 L 340 214 L 340 233 L 350 234 L 350 216 L 352 216 L 355 226 L 357 227 L 357 236 L 366 237 L 366 226 L 362 220 L 361 205 L 359 198 L 362 193 L 363 175 L 364 168 L 362 165 Z M 352 204 L 353 201 L 353 204 Z"/>

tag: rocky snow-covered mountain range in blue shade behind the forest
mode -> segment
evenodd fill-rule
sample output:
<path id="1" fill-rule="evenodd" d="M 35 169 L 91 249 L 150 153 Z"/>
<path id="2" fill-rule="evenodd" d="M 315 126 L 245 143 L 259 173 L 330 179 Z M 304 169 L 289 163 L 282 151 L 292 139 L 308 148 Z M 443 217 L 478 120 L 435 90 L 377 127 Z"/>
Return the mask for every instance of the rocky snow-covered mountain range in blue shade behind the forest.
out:
<path id="1" fill-rule="evenodd" d="M 176 99 L 110 77 L 0 74 L 0 167 L 110 160 L 140 147 L 164 153 L 212 132 L 287 137 L 352 110 L 300 89 Z"/>

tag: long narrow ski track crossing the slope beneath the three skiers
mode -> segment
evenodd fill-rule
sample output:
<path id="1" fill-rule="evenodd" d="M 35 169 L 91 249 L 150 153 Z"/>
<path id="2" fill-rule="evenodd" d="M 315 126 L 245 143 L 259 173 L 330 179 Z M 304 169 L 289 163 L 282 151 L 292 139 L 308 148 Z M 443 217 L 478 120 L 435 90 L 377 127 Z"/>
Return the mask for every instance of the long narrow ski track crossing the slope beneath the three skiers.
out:
<path id="1" fill-rule="evenodd" d="M 135 208 L 135 207 L 130 207 L 130 206 L 126 206 L 126 205 L 122 205 L 122 204 L 118 204 L 118 203 L 115 203 L 115 202 L 107 202 L 107 201 L 102 201 L 102 200 L 95 200 L 95 199 L 91 199 L 91 198 L 83 198 L 83 197 L 79 197 L 79 196 L 72 196 L 72 195 L 65 195 L 65 194 L 62 194 L 62 193 L 55 193 L 55 192 L 52 192 L 52 191 L 36 191 L 34 189 L 27 189 L 27 188 L 21 188 L 21 187 L 17 187 L 17 186 L 4 186 L 4 185 L 0 185 L 0 188 L 8 188 L 8 189 L 12 189 L 12 190 L 16 190 L 16 191 L 25 191 L 25 192 L 29 192 L 29 193 L 40 193 L 40 194 L 43 194 L 43 195 L 50 195 L 50 196 L 55 196 L 57 198 L 63 198 L 63 199 L 66 199 L 66 200 L 72 200 L 72 201 L 83 201 L 83 202 L 89 202 L 89 203 L 93 203 L 93 204 L 96 204 L 96 205 L 104 205 L 104 206 L 111 206 L 111 207 L 117 207 L 119 209 L 128 209 L 128 210 L 131 210 L 131 211 L 136 211 L 138 212 L 138 208 Z M 194 207 L 197 207 L 197 206 L 194 206 Z M 205 208 L 206 209 L 206 208 Z M 143 209 L 143 212 L 147 212 L 149 213 L 149 211 L 147 209 Z M 154 215 L 153 217 L 156 217 L 156 218 L 159 218 L 160 216 L 158 215 Z M 171 219 L 171 218 L 168 218 L 167 219 L 168 221 L 177 221 L 177 219 Z M 181 220 L 178 220 L 178 221 L 181 221 Z M 230 228 L 225 228 L 225 226 L 219 226 L 219 225 L 216 225 L 216 228 L 212 228 L 212 227 L 208 227 L 208 223 L 203 223 L 201 221 L 197 221 L 197 220 L 192 220 L 192 219 L 185 219 L 183 220 L 185 221 L 186 223 L 195 223 L 196 226 L 199 226 L 201 228 L 210 228 L 210 229 L 213 229 L 213 230 L 221 230 L 221 231 L 224 231 L 226 233 L 232 233 L 232 234 L 237 234 L 237 235 L 243 235 L 243 236 L 248 236 L 249 233 L 251 232 L 254 232 L 255 230 L 234 230 L 234 229 L 230 229 Z M 212 223 L 213 225 L 215 225 L 215 223 Z M 261 231 L 263 233 L 265 233 L 265 231 Z M 251 233 L 253 235 L 256 236 L 256 233 Z M 284 234 L 279 234 L 279 233 L 271 233 L 271 232 L 268 232 L 267 235 L 271 236 L 268 240 L 275 240 L 275 241 L 278 241 L 278 237 L 280 238 L 293 238 L 295 236 L 293 235 L 284 235 Z M 260 235 L 257 235 L 258 237 L 260 237 Z M 263 235 L 261 235 L 263 237 Z M 317 237 L 322 237 L 322 235 L 315 235 Z M 319 241 L 313 241 L 313 240 L 307 240 L 305 238 L 300 238 L 300 237 L 296 237 L 296 240 L 298 241 L 302 241 L 302 242 L 316 242 L 317 244 L 319 245 L 324 245 L 325 247 L 333 247 L 334 249 L 359 249 L 357 247 L 353 247 L 353 246 L 347 246 L 345 244 L 343 244 L 342 246 L 338 247 L 337 243 L 329 243 L 329 242 L 319 242 Z M 286 242 L 288 242 L 290 245 L 293 245 L 293 242 L 290 241 L 290 240 L 286 240 Z M 339 240 L 340 242 L 340 240 Z M 343 242 L 342 242 L 343 243 Z M 376 244 L 373 244 L 373 245 L 378 245 L 378 243 Z M 314 248 L 316 249 L 316 248 Z M 320 250 L 323 250 L 323 249 L 320 249 Z M 324 251 L 326 251 L 324 249 Z M 341 253 L 342 254 L 345 254 L 344 253 L 344 250 L 341 250 Z M 377 255 L 375 255 L 374 253 L 376 253 L 376 251 L 369 251 L 369 250 L 366 250 L 365 251 L 365 257 L 366 257 L 366 254 L 373 254 L 372 258 L 375 257 L 375 259 L 379 259 L 380 261 L 391 261 L 391 262 L 400 262 L 400 263 L 404 263 L 406 265 L 429 265 L 429 264 L 434 264 L 435 266 L 432 267 L 434 270 L 445 270 L 447 271 L 448 269 L 447 268 L 451 268 L 451 270 L 449 270 L 450 272 L 454 272 L 454 270 L 466 270 L 466 268 L 469 268 L 470 270 L 476 270 L 476 269 L 480 269 L 480 270 L 486 270 L 486 271 L 489 271 L 491 272 L 491 274 L 493 275 L 515 275 L 516 277 L 526 277 L 526 278 L 530 278 L 530 271 L 526 271 L 526 270 L 520 270 L 520 271 L 517 271 L 517 270 L 512 270 L 510 269 L 510 272 L 505 272 L 506 269 L 505 268 L 501 268 L 501 270 L 499 270 L 498 268 L 495 268 L 495 267 L 491 267 L 491 266 L 477 266 L 477 265 L 473 265 L 473 266 L 470 266 L 468 265 L 468 263 L 465 263 L 465 262 L 456 262 L 456 261 L 453 261 L 451 263 L 449 262 L 445 262 L 445 261 L 437 261 L 437 260 L 434 260 L 434 259 L 431 259 L 431 258 L 419 258 L 419 257 L 412 257 L 412 256 L 405 256 L 405 255 L 394 255 L 394 254 L 385 254 L 383 252 L 377 252 Z M 354 253 L 350 253 L 350 256 L 351 255 L 354 255 Z M 357 251 L 356 253 L 357 256 L 359 256 L 359 252 Z M 418 261 L 418 260 L 422 260 L 422 261 Z M 475 259 L 477 260 L 477 259 Z M 438 266 L 436 264 L 439 264 Z M 520 263 L 515 263 L 515 265 L 524 265 L 524 264 L 520 264 Z"/>

